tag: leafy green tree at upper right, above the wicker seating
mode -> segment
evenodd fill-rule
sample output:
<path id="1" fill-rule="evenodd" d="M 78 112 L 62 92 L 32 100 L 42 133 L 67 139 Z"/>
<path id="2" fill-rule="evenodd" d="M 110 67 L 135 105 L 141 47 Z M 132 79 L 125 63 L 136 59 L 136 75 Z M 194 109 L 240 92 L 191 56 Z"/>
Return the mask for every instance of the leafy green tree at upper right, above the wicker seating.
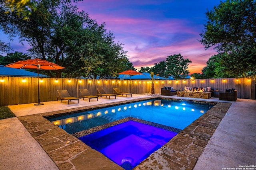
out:
<path id="1" fill-rule="evenodd" d="M 256 78 L 256 1 L 226 0 L 207 11 L 206 18 L 200 42 L 219 53 L 218 69 Z"/>

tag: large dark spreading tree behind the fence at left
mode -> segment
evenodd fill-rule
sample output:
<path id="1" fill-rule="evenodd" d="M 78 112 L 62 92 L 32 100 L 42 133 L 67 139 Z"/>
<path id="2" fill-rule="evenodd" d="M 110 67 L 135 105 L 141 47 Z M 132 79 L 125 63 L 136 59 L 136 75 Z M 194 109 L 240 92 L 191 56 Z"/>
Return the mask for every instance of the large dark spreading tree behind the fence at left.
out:
<path id="1" fill-rule="evenodd" d="M 10 37 L 18 35 L 20 41 L 27 41 L 28 55 L 66 67 L 46 71 L 50 77 L 115 76 L 130 65 L 122 44 L 114 42 L 105 23 L 98 25 L 66 0 L 35 2 L 36 10 L 27 9 L 29 20 L 15 12 L 5 13 L 1 4 L 0 27 Z"/>

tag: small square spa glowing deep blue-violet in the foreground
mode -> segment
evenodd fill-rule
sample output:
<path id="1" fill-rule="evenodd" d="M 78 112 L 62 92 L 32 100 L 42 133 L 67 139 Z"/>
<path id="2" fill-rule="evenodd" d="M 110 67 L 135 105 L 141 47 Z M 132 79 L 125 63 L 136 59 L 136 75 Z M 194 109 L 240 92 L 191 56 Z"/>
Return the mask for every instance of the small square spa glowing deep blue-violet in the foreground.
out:
<path id="1" fill-rule="evenodd" d="M 127 121 L 79 139 L 124 169 L 131 170 L 175 135 L 176 132 Z"/>

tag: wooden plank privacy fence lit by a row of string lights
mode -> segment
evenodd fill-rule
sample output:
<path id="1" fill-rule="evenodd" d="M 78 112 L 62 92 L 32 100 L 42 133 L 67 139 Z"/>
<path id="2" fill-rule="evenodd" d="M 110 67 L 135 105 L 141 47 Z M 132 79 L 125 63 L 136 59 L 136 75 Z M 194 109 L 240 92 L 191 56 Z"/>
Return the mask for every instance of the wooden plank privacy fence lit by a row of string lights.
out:
<path id="1" fill-rule="evenodd" d="M 255 80 L 248 78 L 215 78 L 196 80 L 155 80 L 155 92 L 160 93 L 163 86 L 172 86 L 183 90 L 190 87 L 212 87 L 214 90 L 225 91 L 226 88 L 238 90 L 238 98 L 255 99 Z M 96 88 L 102 87 L 107 93 L 113 88 L 123 92 L 144 94 L 150 93 L 150 80 L 95 80 L 76 78 L 40 78 L 40 102 L 54 101 L 58 97 L 57 90 L 66 89 L 70 96 L 79 97 L 79 89 L 88 89 L 91 95 L 96 94 Z M 28 104 L 38 102 L 38 82 L 33 77 L 0 77 L 0 106 Z"/>

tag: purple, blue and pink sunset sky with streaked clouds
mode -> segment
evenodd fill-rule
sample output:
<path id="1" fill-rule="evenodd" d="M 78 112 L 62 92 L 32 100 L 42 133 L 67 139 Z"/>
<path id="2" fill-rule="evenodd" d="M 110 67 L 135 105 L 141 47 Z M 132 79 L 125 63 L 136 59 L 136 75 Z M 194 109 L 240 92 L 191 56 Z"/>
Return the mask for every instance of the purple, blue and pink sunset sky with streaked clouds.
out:
<path id="1" fill-rule="evenodd" d="M 151 67 L 166 57 L 181 54 L 192 61 L 190 73 L 200 73 L 206 61 L 216 54 L 198 42 L 206 23 L 206 10 L 220 0 L 84 0 L 79 10 L 88 12 L 98 24 L 106 23 L 115 41 L 124 45 L 133 66 Z M 1 40 L 8 42 L 7 36 Z M 28 46 L 11 42 L 14 51 L 26 53 Z"/>

